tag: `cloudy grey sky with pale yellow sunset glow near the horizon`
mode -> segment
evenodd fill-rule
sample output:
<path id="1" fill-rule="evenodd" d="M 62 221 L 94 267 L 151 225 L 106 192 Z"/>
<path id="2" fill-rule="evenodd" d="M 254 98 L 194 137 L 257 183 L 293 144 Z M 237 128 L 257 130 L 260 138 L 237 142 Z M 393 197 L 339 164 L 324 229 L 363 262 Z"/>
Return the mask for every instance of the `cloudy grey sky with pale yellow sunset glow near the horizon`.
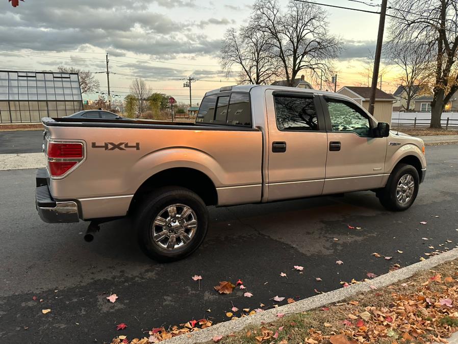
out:
<path id="1" fill-rule="evenodd" d="M 278 0 L 286 5 L 288 0 Z M 378 10 L 351 0 L 319 3 Z M 136 76 L 154 91 L 186 101 L 182 78 L 193 76 L 193 103 L 206 90 L 234 84 L 220 70 L 225 30 L 243 24 L 252 0 L 25 0 L 13 8 L 0 0 L 0 69 L 56 70 L 59 65 L 104 71 L 109 53 L 110 86 L 124 96 Z M 378 16 L 326 8 L 330 33 L 345 42 L 337 67 L 338 86 L 360 85 L 362 62 L 375 49 Z M 102 91 L 106 75 L 97 74 Z M 384 90 L 395 88 L 387 74 Z M 89 95 L 91 97 L 91 95 Z M 93 97 L 93 95 L 92 95 Z"/>

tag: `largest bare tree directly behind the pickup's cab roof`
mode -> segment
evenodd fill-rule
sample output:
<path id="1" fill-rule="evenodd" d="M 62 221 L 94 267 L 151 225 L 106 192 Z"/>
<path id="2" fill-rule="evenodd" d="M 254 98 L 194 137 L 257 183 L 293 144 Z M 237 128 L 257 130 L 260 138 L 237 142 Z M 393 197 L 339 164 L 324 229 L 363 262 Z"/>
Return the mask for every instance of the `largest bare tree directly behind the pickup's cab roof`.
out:
<path id="1" fill-rule="evenodd" d="M 270 37 L 275 56 L 290 86 L 303 69 L 314 80 L 324 72 L 329 79 L 332 60 L 340 51 L 340 41 L 328 34 L 327 13 L 315 4 L 289 0 L 283 13 L 277 0 L 257 0 L 252 20 L 254 27 Z"/>

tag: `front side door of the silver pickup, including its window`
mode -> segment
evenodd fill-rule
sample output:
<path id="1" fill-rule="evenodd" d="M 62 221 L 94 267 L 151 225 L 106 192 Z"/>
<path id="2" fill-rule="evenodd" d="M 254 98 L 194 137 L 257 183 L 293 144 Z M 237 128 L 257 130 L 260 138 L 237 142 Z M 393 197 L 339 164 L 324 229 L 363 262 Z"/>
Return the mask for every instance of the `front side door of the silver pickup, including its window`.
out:
<path id="1" fill-rule="evenodd" d="M 374 137 L 375 120 L 341 97 L 322 96 L 321 103 L 328 130 L 323 194 L 380 187 L 387 138 Z"/>

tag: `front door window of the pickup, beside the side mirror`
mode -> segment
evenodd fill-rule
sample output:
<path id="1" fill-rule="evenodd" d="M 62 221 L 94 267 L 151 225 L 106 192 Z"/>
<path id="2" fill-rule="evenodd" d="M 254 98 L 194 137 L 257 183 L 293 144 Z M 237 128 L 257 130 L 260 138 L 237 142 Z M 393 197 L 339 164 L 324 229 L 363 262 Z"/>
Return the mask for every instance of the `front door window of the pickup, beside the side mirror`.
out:
<path id="1" fill-rule="evenodd" d="M 327 100 L 327 108 L 333 131 L 371 136 L 369 118 L 356 105 L 338 100 Z"/>

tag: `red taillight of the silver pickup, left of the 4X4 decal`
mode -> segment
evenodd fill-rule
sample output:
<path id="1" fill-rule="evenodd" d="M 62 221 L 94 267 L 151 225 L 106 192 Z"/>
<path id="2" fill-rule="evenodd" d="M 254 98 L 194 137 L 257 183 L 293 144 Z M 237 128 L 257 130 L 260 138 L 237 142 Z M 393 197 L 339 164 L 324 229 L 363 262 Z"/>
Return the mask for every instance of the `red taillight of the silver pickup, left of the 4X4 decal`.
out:
<path id="1" fill-rule="evenodd" d="M 81 142 L 48 142 L 49 175 L 62 178 L 84 160 L 84 145 Z"/>

